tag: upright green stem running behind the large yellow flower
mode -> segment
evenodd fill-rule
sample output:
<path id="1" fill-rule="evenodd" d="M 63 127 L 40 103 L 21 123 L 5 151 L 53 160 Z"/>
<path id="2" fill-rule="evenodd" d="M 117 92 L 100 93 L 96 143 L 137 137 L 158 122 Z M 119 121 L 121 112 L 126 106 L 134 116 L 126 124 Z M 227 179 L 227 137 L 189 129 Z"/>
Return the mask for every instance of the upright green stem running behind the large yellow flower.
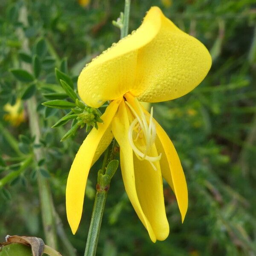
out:
<path id="1" fill-rule="evenodd" d="M 130 5 L 131 5 L 131 0 L 125 0 L 125 11 L 124 11 L 123 26 L 121 28 L 121 39 L 126 35 L 128 35 Z M 111 145 L 109 145 L 107 150 L 105 151 L 104 160 L 102 164 L 102 171 L 104 173 L 106 170 L 106 166 L 114 158 L 115 146 L 116 146 L 116 141 L 115 139 L 113 139 Z M 105 202 L 108 195 L 109 186 L 102 188 L 99 184 L 97 184 L 96 189 L 97 189 L 97 192 L 94 200 L 93 212 L 92 212 L 84 256 L 96 255 L 97 244 L 99 239 L 99 231 L 102 223 L 102 216 L 103 216 Z"/>

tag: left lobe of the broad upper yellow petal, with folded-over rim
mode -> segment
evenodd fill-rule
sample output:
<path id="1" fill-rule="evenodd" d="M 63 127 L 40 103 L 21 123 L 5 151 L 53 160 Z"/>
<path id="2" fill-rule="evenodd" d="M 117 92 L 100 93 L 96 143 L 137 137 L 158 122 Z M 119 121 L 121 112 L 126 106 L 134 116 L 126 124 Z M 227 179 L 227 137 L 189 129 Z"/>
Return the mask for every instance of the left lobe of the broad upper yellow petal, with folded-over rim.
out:
<path id="1" fill-rule="evenodd" d="M 87 105 L 98 108 L 105 101 L 117 99 L 132 88 L 134 93 L 141 93 L 134 84 L 137 53 L 157 34 L 160 15 L 159 8 L 151 8 L 136 32 L 103 52 L 82 70 L 78 92 Z"/>

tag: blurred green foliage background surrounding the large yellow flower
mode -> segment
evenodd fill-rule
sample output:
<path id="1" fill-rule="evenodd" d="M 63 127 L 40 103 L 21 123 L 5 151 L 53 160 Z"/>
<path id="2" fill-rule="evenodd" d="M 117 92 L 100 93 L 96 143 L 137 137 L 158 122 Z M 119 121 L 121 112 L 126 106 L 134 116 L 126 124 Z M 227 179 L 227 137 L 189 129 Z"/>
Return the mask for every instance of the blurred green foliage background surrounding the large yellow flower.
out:
<path id="1" fill-rule="evenodd" d="M 19 20 L 24 6 L 26 24 Z M 117 171 L 107 198 L 98 255 L 256 255 L 255 0 L 133 0 L 130 32 L 150 6 L 159 6 L 180 29 L 202 41 L 213 59 L 210 73 L 195 90 L 153 105 L 155 118 L 180 156 L 189 186 L 189 209 L 181 224 L 175 196 L 164 184 L 170 235 L 153 244 Z M 86 132 L 79 130 L 60 143 L 70 124 L 51 126 L 67 111 L 41 103 L 68 97 L 55 67 L 76 88 L 85 64 L 119 40 L 112 20 L 123 7 L 122 0 L 91 0 L 86 7 L 76 0 L 0 1 L 1 241 L 6 234 L 44 238 L 36 183 L 40 171 L 49 179 L 68 238 L 77 255 L 83 254 L 100 163 L 90 172 L 84 214 L 73 236 L 66 220 L 65 185 Z M 29 39 L 26 51 L 19 31 Z M 24 65 L 31 65 L 31 73 L 23 71 Z M 39 144 L 31 137 L 26 115 L 26 102 L 33 95 L 43 134 Z M 13 127 L 5 120 L 4 105 L 14 105 L 17 98 L 22 99 L 25 119 Z M 43 148 L 45 159 L 35 162 L 33 148 Z M 66 255 L 63 248 L 59 243 Z"/>

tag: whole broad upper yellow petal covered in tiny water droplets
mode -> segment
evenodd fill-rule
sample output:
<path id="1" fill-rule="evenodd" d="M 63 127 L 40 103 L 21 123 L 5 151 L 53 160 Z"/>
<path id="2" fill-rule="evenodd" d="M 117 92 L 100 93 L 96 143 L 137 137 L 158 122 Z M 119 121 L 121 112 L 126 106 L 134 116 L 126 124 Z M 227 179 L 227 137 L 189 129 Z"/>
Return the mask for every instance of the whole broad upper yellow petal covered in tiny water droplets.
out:
<path id="1" fill-rule="evenodd" d="M 90 106 L 131 92 L 143 102 L 161 102 L 189 93 L 207 75 L 211 56 L 152 7 L 142 25 L 82 70 L 79 96 Z"/>

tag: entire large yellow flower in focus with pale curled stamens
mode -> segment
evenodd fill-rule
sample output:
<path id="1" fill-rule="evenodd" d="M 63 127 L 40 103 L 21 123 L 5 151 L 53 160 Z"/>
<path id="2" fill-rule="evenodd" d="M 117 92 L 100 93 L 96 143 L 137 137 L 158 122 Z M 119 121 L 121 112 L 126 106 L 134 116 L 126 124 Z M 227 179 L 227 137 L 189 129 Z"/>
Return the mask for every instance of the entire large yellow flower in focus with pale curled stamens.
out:
<path id="1" fill-rule="evenodd" d="M 166 132 L 139 101 L 162 102 L 189 93 L 207 75 L 211 57 L 201 42 L 178 29 L 158 7 L 142 25 L 88 64 L 78 79 L 81 99 L 98 108 L 111 101 L 99 129 L 86 137 L 67 179 L 67 218 L 73 233 L 81 219 L 88 172 L 113 137 L 120 146 L 125 190 L 152 241 L 169 234 L 163 180 L 169 183 L 184 220 L 186 180 Z"/>

